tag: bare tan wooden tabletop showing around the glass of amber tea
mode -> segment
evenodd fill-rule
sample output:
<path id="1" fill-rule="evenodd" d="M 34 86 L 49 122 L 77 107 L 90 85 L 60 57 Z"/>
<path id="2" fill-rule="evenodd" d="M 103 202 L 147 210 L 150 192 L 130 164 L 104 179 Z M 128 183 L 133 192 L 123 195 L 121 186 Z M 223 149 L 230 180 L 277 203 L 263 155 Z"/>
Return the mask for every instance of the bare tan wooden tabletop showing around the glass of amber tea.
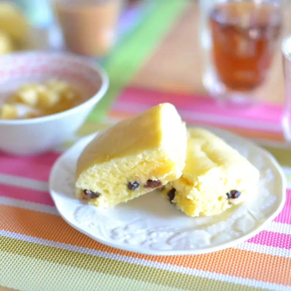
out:
<path id="1" fill-rule="evenodd" d="M 291 6 L 286 7 L 290 15 Z M 201 81 L 203 66 L 198 40 L 199 8 L 189 1 L 168 35 L 153 56 L 143 65 L 132 85 L 186 94 L 207 94 Z M 286 17 L 286 32 L 291 32 L 291 19 Z M 256 98 L 272 103 L 284 101 L 284 79 L 280 47 L 274 57 L 266 84 L 258 90 Z"/>

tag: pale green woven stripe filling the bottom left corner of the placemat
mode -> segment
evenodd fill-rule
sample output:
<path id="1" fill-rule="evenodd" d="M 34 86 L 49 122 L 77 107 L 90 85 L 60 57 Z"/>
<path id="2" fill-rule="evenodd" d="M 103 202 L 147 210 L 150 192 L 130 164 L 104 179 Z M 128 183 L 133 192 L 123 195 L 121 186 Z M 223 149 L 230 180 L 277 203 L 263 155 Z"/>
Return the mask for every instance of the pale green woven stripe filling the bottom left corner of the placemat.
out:
<path id="1" fill-rule="evenodd" d="M 7 252 L 0 252 L 0 264 L 0 285 L 23 291 L 181 290 Z"/>

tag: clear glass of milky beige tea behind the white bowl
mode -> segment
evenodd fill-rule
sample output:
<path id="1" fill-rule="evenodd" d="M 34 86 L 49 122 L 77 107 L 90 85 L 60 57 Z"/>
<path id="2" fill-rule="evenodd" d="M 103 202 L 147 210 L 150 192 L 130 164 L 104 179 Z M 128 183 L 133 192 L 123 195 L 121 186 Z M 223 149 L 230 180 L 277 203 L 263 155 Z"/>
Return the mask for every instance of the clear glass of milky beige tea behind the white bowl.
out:
<path id="1" fill-rule="evenodd" d="M 105 56 L 116 41 L 122 0 L 51 0 L 66 49 Z"/>

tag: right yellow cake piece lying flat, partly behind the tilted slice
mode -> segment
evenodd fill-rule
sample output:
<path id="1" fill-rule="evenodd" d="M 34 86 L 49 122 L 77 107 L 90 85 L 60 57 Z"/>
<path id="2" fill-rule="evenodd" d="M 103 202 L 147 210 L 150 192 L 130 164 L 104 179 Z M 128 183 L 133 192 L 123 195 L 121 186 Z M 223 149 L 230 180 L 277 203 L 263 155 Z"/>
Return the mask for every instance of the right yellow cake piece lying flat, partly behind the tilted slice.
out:
<path id="1" fill-rule="evenodd" d="M 189 216 L 210 216 L 256 194 L 259 171 L 238 151 L 205 129 L 188 129 L 182 176 L 162 191 Z"/>

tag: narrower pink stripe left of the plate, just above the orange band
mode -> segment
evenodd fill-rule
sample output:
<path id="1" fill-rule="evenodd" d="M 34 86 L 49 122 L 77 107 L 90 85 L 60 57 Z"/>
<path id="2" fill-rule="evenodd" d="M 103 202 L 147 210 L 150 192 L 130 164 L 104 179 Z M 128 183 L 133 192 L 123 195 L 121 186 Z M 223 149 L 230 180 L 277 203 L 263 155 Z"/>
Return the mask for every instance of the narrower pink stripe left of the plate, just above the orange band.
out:
<path id="1" fill-rule="evenodd" d="M 54 206 L 49 192 L 0 184 L 0 196 Z"/>

